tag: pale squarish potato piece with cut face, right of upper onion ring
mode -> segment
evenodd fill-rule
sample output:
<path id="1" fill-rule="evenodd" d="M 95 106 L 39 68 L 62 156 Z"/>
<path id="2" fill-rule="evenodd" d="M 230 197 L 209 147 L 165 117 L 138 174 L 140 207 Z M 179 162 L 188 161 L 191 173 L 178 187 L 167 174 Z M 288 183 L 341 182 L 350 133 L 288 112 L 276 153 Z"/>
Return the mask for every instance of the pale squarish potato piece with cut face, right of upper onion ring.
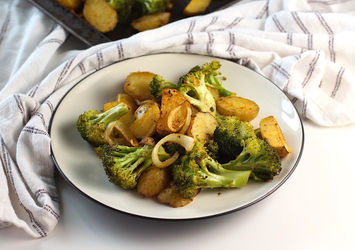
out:
<path id="1" fill-rule="evenodd" d="M 213 137 L 213 132 L 218 122 L 209 112 L 197 112 L 192 118 L 187 135 L 198 138 L 201 142 L 208 142 Z"/>

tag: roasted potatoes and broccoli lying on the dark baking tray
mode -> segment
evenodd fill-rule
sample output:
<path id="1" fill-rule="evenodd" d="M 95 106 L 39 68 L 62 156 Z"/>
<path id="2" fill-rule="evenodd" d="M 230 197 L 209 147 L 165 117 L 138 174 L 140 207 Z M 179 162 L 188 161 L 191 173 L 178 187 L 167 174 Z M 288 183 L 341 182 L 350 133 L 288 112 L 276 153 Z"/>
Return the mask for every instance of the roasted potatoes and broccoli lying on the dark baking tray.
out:
<path id="1" fill-rule="evenodd" d="M 139 17 L 131 22 L 137 31 L 152 30 L 166 25 L 174 6 L 170 0 L 56 0 L 81 16 L 100 32 L 113 30 L 118 23 L 125 23 L 139 5 Z M 207 10 L 211 0 L 190 0 L 182 13 L 195 16 Z M 138 8 L 137 8 L 138 9 Z"/>

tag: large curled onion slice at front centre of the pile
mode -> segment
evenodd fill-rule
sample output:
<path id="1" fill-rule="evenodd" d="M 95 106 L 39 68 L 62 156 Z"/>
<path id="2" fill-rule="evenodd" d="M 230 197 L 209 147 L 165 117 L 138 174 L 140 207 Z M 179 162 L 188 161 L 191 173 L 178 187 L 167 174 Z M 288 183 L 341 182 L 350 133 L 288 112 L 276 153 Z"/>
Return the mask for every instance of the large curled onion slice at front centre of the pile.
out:
<path id="1" fill-rule="evenodd" d="M 165 160 L 165 161 L 159 160 L 159 157 L 158 157 L 159 147 L 162 146 L 166 142 L 178 143 L 179 145 L 184 147 L 186 149 L 186 151 L 190 151 L 192 149 L 193 145 L 195 145 L 196 139 L 192 138 L 188 135 L 177 134 L 177 133 L 166 135 L 157 144 L 155 144 L 153 151 L 152 151 L 153 164 L 157 167 L 167 167 L 167 166 L 173 164 L 174 161 L 176 159 L 178 159 L 178 157 L 179 157 L 179 153 L 175 152 L 175 154 L 170 159 Z"/>

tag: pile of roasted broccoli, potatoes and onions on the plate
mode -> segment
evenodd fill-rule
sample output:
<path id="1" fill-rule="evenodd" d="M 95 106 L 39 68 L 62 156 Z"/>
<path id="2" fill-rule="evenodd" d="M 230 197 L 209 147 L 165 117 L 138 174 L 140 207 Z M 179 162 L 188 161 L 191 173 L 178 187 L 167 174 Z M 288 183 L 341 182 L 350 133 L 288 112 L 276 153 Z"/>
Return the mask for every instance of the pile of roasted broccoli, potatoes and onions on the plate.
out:
<path id="1" fill-rule="evenodd" d="M 280 174 L 280 157 L 291 150 L 277 121 L 265 117 L 254 128 L 259 106 L 225 89 L 220 68 L 212 60 L 177 83 L 130 73 L 116 100 L 78 117 L 111 182 L 181 207 L 203 188 L 240 188 Z"/>

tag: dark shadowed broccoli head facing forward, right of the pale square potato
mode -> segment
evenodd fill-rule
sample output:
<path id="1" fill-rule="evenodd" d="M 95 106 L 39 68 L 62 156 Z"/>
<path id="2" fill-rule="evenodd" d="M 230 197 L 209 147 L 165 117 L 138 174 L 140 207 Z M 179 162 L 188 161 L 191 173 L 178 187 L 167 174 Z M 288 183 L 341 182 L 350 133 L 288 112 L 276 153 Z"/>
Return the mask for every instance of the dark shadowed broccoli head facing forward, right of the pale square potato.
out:
<path id="1" fill-rule="evenodd" d="M 235 116 L 224 117 L 213 132 L 213 141 L 218 144 L 220 162 L 234 160 L 243 149 L 242 140 L 253 137 L 256 135 L 250 122 L 242 122 Z"/>

